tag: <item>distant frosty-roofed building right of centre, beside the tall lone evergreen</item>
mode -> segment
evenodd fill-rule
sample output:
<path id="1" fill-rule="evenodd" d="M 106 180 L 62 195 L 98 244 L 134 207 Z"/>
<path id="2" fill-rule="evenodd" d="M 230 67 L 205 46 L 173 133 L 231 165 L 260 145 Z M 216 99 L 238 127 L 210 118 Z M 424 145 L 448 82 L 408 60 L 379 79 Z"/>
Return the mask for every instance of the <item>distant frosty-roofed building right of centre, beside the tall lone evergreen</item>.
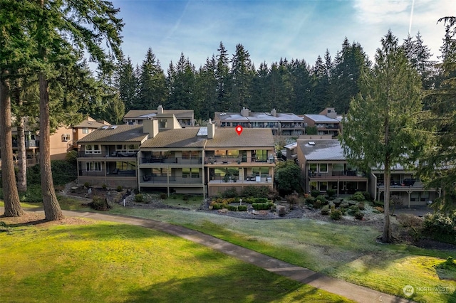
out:
<path id="1" fill-rule="evenodd" d="M 341 116 L 334 107 L 326 107 L 318 115 L 303 115 L 306 127 L 316 127 L 317 134 L 331 134 L 336 137 L 341 131 Z"/>

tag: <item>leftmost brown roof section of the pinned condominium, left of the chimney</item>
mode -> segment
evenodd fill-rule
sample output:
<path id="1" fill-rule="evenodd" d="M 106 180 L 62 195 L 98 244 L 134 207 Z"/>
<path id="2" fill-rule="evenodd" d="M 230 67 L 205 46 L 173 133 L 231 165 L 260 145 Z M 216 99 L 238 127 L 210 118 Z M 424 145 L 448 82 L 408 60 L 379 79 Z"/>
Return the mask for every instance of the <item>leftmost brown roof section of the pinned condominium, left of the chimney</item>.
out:
<path id="1" fill-rule="evenodd" d="M 105 128 L 106 129 L 103 129 Z M 142 132 L 142 125 L 120 124 L 104 126 L 90 132 L 78 143 L 88 142 L 142 142 L 149 134 Z"/>

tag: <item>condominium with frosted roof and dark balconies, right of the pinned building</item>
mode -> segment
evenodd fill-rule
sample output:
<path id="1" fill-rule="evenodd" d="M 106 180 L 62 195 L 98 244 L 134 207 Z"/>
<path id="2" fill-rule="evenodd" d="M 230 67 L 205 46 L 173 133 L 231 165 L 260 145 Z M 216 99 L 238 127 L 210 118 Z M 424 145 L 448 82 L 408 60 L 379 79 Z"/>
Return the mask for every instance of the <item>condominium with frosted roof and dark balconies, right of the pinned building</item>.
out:
<path id="1" fill-rule="evenodd" d="M 336 139 L 298 139 L 297 162 L 304 189 L 336 190 L 337 195 L 368 191 L 368 176 L 350 166 Z"/>

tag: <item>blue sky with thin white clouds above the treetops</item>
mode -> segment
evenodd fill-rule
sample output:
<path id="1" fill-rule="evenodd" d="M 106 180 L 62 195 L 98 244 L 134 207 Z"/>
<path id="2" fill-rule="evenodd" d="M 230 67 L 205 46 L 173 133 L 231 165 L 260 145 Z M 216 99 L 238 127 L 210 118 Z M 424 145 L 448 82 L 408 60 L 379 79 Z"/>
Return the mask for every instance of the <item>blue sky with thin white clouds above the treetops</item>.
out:
<path id="1" fill-rule="evenodd" d="M 147 48 L 152 48 L 165 71 L 181 53 L 199 68 L 206 58 L 217 55 L 221 41 L 229 58 L 242 44 L 256 68 L 280 58 L 314 65 L 326 48 L 334 58 L 345 37 L 361 43 L 373 60 L 388 29 L 402 43 L 410 28 L 411 36 L 420 31 L 437 60 L 445 33 L 437 19 L 456 16 L 455 0 L 118 0 L 113 4 L 125 23 L 125 55 L 134 65 L 141 64 Z"/>

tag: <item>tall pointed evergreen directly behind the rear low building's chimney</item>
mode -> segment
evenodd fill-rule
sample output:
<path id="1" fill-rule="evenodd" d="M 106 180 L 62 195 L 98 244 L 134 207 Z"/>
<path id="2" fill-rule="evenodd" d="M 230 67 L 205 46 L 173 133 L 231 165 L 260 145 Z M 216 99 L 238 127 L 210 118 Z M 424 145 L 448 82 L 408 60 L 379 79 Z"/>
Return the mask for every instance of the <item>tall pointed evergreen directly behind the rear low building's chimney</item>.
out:
<path id="1" fill-rule="evenodd" d="M 160 61 L 155 59 L 152 49 L 149 48 L 140 68 L 138 100 L 132 109 L 156 109 L 165 101 L 165 91 L 165 73 L 160 67 Z"/>

